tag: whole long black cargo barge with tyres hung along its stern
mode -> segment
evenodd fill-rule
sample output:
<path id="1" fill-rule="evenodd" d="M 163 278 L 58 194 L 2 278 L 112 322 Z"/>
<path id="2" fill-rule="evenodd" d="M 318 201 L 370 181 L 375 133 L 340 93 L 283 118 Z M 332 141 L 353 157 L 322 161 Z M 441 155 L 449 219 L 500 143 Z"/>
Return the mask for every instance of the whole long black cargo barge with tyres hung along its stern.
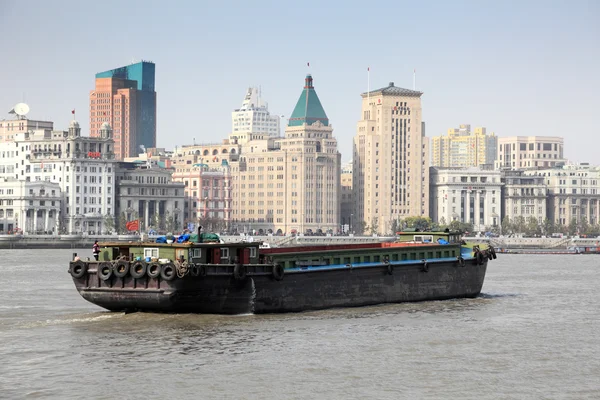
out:
<path id="1" fill-rule="evenodd" d="M 277 248 L 207 243 L 200 233 L 183 243 L 100 245 L 98 261 L 73 260 L 69 273 L 84 299 L 128 312 L 278 313 L 475 297 L 496 258 L 493 247 L 452 232 Z"/>

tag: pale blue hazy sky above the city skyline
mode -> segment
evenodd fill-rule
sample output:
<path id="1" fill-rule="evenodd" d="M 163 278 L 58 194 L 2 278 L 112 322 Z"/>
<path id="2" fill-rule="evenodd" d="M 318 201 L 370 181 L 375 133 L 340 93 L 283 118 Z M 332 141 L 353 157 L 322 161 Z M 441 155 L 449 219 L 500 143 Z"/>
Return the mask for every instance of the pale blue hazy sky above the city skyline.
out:
<path id="1" fill-rule="evenodd" d="M 419 3 L 419 4 L 416 4 Z M 89 134 L 97 72 L 156 63 L 157 144 L 215 143 L 248 86 L 288 116 L 304 76 L 352 157 L 360 93 L 395 82 L 424 92 L 427 136 L 461 123 L 499 136 L 565 139 L 600 164 L 600 1 L 0 0 L 0 119 Z"/>

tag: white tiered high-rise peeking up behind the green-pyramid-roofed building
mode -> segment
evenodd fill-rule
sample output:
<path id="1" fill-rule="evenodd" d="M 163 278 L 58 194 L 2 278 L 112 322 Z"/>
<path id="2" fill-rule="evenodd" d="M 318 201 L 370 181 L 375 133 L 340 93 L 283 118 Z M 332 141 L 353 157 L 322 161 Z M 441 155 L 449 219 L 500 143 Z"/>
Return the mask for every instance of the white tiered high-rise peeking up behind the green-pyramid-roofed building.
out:
<path id="1" fill-rule="evenodd" d="M 279 116 L 271 115 L 257 88 L 248 88 L 242 106 L 231 113 L 231 133 L 262 133 L 279 136 Z"/>

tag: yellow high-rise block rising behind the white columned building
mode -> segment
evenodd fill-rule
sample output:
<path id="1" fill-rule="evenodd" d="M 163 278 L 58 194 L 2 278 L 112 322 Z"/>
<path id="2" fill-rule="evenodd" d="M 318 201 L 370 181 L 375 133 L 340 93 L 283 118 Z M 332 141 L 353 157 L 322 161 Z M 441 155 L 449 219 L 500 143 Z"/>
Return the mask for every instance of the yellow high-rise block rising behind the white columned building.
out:
<path id="1" fill-rule="evenodd" d="M 483 127 L 471 132 L 471 125 L 448 129 L 446 136 L 431 138 L 431 165 L 434 167 L 467 168 L 494 165 L 498 137 L 487 134 Z"/>

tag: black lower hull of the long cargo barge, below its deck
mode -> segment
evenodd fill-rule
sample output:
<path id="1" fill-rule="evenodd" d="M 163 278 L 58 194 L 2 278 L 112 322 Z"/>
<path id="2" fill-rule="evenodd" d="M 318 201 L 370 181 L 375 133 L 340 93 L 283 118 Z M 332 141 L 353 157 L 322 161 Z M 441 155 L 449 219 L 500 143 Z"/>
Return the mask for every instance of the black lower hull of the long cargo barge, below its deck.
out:
<path id="1" fill-rule="evenodd" d="M 74 278 L 84 299 L 111 311 L 245 314 L 358 307 L 382 303 L 475 297 L 481 292 L 487 259 L 430 260 L 360 267 L 286 271 L 276 280 L 270 271 L 249 272 L 236 280 L 229 271 L 204 277 L 111 278 L 100 281 L 93 269 Z M 391 271 L 390 271 L 391 270 Z"/>

